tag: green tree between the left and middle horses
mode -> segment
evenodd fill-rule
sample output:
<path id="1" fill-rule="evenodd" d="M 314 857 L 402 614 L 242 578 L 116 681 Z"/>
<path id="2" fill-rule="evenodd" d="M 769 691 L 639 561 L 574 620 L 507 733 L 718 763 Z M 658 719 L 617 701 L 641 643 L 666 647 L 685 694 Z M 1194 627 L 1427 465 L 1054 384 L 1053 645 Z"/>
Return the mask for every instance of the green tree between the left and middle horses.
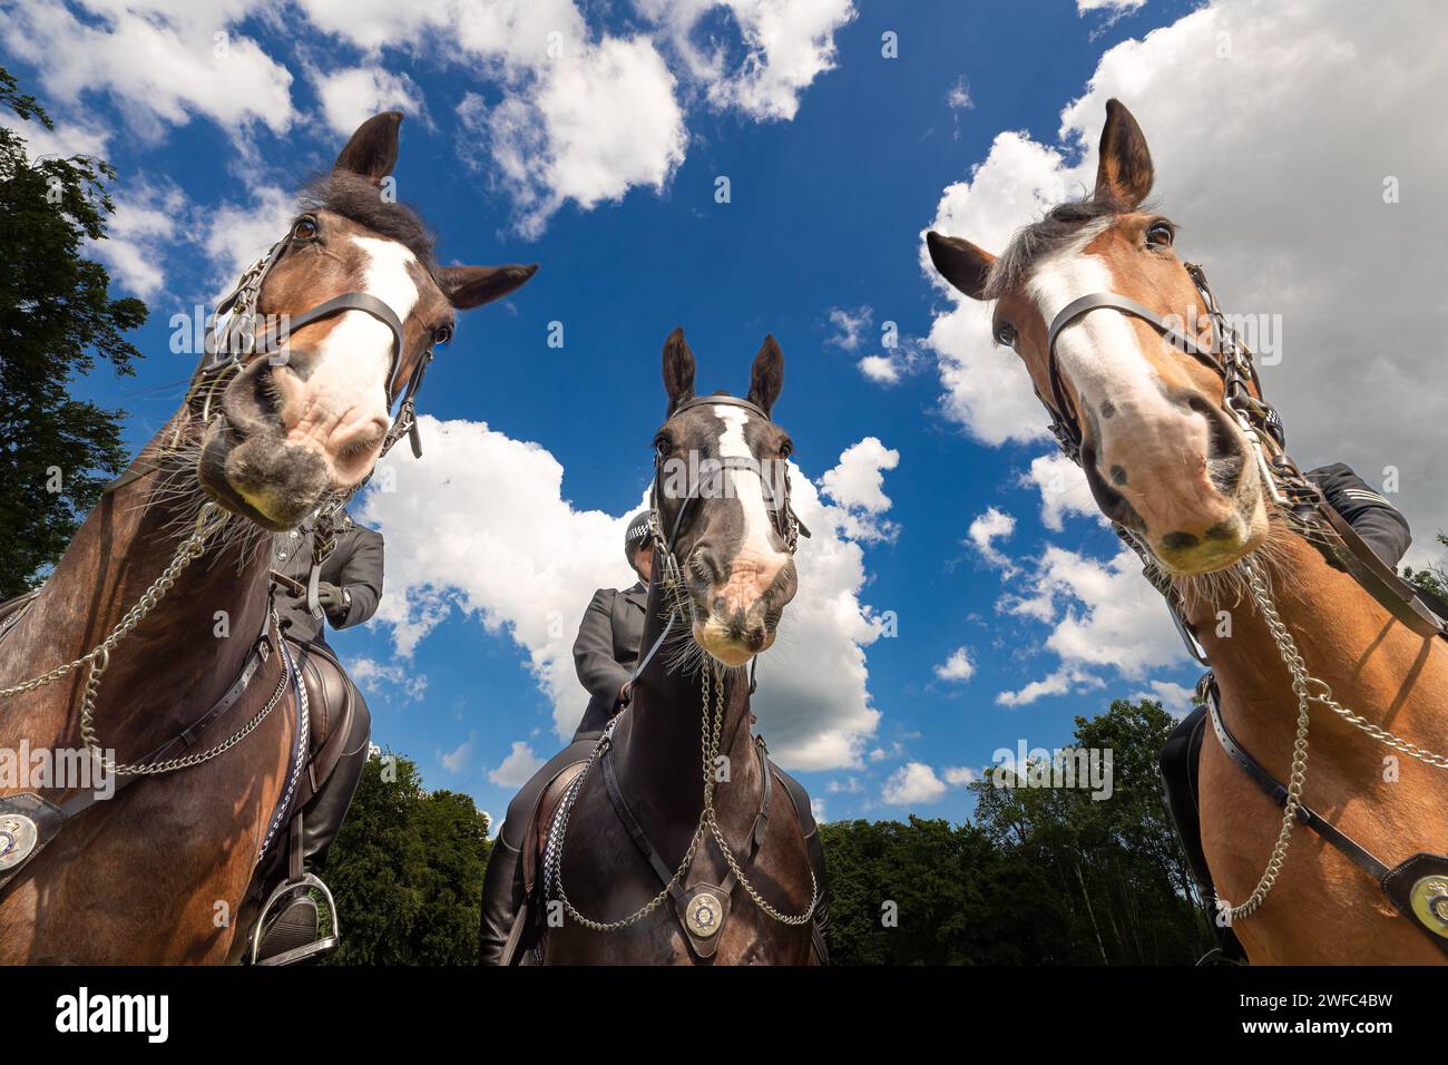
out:
<path id="1" fill-rule="evenodd" d="M 423 788 L 417 765 L 368 759 L 323 878 L 337 903 L 333 965 L 473 965 L 488 816 Z"/>

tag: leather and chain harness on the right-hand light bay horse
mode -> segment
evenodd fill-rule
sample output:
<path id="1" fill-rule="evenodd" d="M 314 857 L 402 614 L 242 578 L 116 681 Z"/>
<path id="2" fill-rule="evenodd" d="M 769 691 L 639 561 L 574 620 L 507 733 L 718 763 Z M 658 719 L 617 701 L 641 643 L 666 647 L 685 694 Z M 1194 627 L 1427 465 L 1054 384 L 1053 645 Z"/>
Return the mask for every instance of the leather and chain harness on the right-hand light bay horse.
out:
<path id="1" fill-rule="evenodd" d="M 1206 364 L 1222 378 L 1222 407 L 1251 443 L 1258 469 L 1263 474 L 1263 484 L 1271 500 L 1283 507 L 1297 525 L 1331 530 L 1334 533 L 1334 536 L 1313 539 L 1319 551 L 1325 555 L 1331 552 L 1328 561 L 1337 561 L 1344 571 L 1357 580 L 1364 591 L 1373 596 L 1396 620 L 1407 626 L 1412 632 L 1423 638 L 1448 638 L 1448 622 L 1441 619 L 1407 581 L 1399 577 L 1392 567 L 1386 565 L 1373 552 L 1352 526 L 1328 503 L 1322 490 L 1287 455 L 1281 417 L 1271 404 L 1261 398 L 1261 383 L 1257 377 L 1251 352 L 1242 343 L 1237 330 L 1226 322 L 1226 316 L 1222 313 L 1202 267 L 1192 262 L 1184 265 L 1187 275 L 1192 278 L 1197 294 L 1206 306 L 1212 327 L 1211 349 L 1202 348 L 1193 338 L 1176 329 L 1171 323 L 1157 316 L 1156 312 L 1119 293 L 1090 293 L 1082 296 L 1066 304 L 1051 320 L 1047 332 L 1047 377 L 1051 388 L 1051 401 L 1047 401 L 1040 393 L 1037 393 L 1037 398 L 1041 400 L 1051 417 L 1051 432 L 1061 452 L 1076 465 L 1082 465 L 1083 436 L 1080 423 L 1072 413 L 1056 355 L 1056 342 L 1061 330 L 1083 314 L 1100 309 L 1141 319 L 1161 333 L 1163 339 Z M 1186 620 L 1180 597 L 1170 581 L 1156 567 L 1148 549 L 1129 529 L 1118 523 L 1114 523 L 1112 527 L 1137 552 L 1144 564 L 1147 580 L 1166 598 L 1171 619 L 1186 643 L 1187 652 L 1202 665 L 1211 667 L 1206 652 L 1196 640 L 1192 626 Z M 1325 545 L 1319 540 L 1325 540 Z M 1299 701 L 1297 740 L 1293 751 L 1292 778 L 1284 785 L 1242 748 L 1231 733 L 1222 717 L 1221 697 L 1215 677 L 1211 672 L 1202 677 L 1196 697 L 1197 701 L 1206 704 L 1212 720 L 1212 730 L 1222 749 L 1257 787 L 1283 809 L 1283 827 L 1257 888 L 1242 906 L 1232 907 L 1225 900 L 1219 900 L 1219 907 L 1228 916 L 1228 920 L 1231 920 L 1234 917 L 1250 916 L 1261 906 L 1286 859 L 1292 826 L 1300 823 L 1312 829 L 1326 843 L 1373 877 L 1392 900 L 1393 906 L 1422 929 L 1444 953 L 1448 953 L 1448 856 L 1415 853 L 1390 868 L 1332 824 L 1332 822 L 1302 801 L 1302 791 L 1306 782 L 1308 706 L 1309 703 L 1323 704 L 1374 739 L 1428 765 L 1448 769 L 1448 758 L 1418 748 L 1341 706 L 1332 697 L 1332 691 L 1326 682 L 1306 674 L 1296 645 L 1277 616 L 1271 594 L 1261 580 L 1261 574 L 1255 567 L 1250 567 L 1247 577 L 1257 607 L 1267 620 L 1268 632 L 1277 642 L 1279 652 L 1289 672 L 1293 675 L 1293 691 Z"/>

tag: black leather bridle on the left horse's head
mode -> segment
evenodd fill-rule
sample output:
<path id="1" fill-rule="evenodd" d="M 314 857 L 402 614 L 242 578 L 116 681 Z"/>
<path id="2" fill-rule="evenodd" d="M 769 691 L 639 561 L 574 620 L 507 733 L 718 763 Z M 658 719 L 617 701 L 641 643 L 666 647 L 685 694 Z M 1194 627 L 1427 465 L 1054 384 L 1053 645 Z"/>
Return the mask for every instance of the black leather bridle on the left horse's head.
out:
<path id="1" fill-rule="evenodd" d="M 303 214 L 297 222 L 307 219 L 316 222 L 310 214 Z M 230 375 L 240 372 L 253 355 L 259 352 L 266 354 L 277 365 L 284 365 L 290 358 L 287 342 L 292 332 L 313 322 L 320 322 L 349 310 L 361 310 L 365 314 L 371 314 L 391 330 L 392 351 L 387 375 L 388 410 L 397 404 L 398 377 L 403 368 L 403 320 L 385 300 L 379 300 L 371 293 L 342 293 L 300 314 L 290 316 L 284 323 L 265 332 L 262 336 L 256 335 L 259 314 L 256 304 L 266 277 L 288 251 L 306 243 L 310 243 L 310 239 L 297 236 L 297 223 L 292 223 L 292 229 L 287 236 L 274 243 L 264 256 L 248 267 L 232 290 L 216 304 L 213 316 L 216 326 L 207 333 L 206 356 L 201 359 L 201 365 L 197 367 L 191 385 L 187 390 L 187 403 L 193 409 L 198 409 L 203 420 L 214 417 L 211 406 L 216 396 L 227 384 Z M 224 322 L 223 316 L 226 316 Z M 416 458 L 423 456 L 423 442 L 417 432 L 416 400 L 417 390 L 423 384 L 423 375 L 427 372 L 427 364 L 432 359 L 433 346 L 429 345 L 401 391 L 401 406 L 397 407 L 392 426 L 382 440 L 382 455 L 391 451 L 392 445 L 407 433 L 413 455 Z"/>

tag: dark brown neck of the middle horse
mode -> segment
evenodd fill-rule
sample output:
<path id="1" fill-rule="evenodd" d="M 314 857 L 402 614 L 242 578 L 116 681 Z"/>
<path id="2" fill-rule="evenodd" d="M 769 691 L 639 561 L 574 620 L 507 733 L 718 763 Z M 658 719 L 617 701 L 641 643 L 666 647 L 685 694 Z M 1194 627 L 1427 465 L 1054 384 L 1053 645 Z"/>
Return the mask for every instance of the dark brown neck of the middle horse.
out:
<path id="1" fill-rule="evenodd" d="M 662 588 L 649 588 L 649 609 L 644 620 L 640 653 L 647 653 L 663 632 L 669 617 Z M 634 682 L 633 697 L 624 720 L 615 730 L 615 764 L 620 787 L 630 801 L 644 809 L 644 823 L 668 820 L 675 829 L 692 830 L 704 804 L 702 727 L 704 700 L 701 668 L 670 668 L 675 640 L 688 640 L 688 619 L 675 622 L 675 629 Z M 710 687 L 710 707 L 714 709 L 714 687 Z M 750 732 L 749 680 L 743 669 L 724 672 L 724 726 L 720 730 L 720 755 L 727 758 L 728 784 L 715 788 L 715 810 L 720 823 L 741 820 L 736 811 L 759 803 L 759 764 Z M 743 785 L 743 787 L 740 787 Z"/>

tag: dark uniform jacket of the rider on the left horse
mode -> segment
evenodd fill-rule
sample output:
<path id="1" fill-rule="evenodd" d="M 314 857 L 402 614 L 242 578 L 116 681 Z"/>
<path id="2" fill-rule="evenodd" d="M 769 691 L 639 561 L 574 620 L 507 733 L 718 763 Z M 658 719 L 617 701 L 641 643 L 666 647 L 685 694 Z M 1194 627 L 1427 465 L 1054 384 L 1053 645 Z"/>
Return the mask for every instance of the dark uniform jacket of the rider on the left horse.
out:
<path id="1" fill-rule="evenodd" d="M 306 585 L 311 575 L 311 545 L 310 523 L 303 529 L 277 533 L 272 538 L 272 569 Z M 346 613 L 327 614 L 332 627 L 350 629 L 353 625 L 362 625 L 376 613 L 376 604 L 382 598 L 382 533 L 356 525 L 350 514 L 343 514 L 337 546 L 321 564 L 319 578 L 352 596 L 352 607 Z M 326 625 L 320 617 L 307 613 L 306 597 L 298 598 L 279 590 L 277 613 L 284 623 L 291 622 L 287 635 L 292 639 L 303 643 L 313 640 L 326 643 Z"/>

